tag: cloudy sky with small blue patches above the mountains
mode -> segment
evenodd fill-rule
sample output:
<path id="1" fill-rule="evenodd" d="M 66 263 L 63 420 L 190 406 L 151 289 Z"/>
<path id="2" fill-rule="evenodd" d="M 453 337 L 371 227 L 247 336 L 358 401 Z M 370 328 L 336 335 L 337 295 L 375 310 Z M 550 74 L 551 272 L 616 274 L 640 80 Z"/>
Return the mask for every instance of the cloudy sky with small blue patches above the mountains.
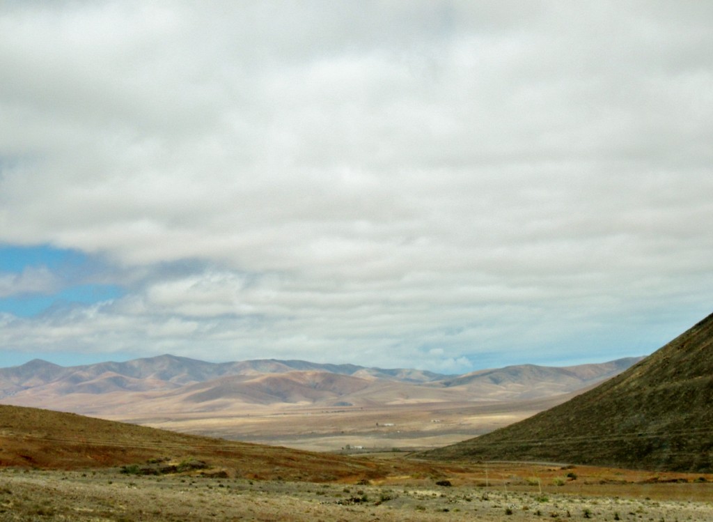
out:
<path id="1" fill-rule="evenodd" d="M 713 311 L 713 4 L 0 3 L 0 366 L 464 373 Z"/>

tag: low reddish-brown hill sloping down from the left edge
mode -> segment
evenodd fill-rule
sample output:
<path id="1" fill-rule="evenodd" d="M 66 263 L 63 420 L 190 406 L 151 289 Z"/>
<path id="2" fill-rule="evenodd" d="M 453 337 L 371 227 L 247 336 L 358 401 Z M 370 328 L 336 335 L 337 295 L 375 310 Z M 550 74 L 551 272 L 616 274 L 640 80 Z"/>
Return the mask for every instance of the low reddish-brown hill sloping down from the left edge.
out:
<path id="1" fill-rule="evenodd" d="M 429 463 L 368 461 L 185 435 L 74 413 L 0 406 L 0 467 L 83 469 L 147 461 L 202 461 L 207 472 L 317 482 L 442 473 L 440 466 Z"/>

